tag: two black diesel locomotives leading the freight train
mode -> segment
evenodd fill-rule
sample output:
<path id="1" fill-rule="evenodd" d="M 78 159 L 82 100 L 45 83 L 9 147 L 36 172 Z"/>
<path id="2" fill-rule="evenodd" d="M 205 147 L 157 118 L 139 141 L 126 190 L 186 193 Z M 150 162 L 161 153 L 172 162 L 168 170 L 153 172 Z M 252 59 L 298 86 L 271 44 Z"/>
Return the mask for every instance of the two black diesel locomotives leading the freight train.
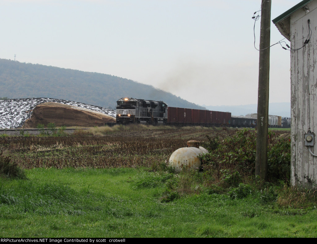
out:
<path id="1" fill-rule="evenodd" d="M 121 98 L 117 101 L 117 124 L 145 123 L 157 125 L 167 123 L 167 104 L 135 98 Z"/>

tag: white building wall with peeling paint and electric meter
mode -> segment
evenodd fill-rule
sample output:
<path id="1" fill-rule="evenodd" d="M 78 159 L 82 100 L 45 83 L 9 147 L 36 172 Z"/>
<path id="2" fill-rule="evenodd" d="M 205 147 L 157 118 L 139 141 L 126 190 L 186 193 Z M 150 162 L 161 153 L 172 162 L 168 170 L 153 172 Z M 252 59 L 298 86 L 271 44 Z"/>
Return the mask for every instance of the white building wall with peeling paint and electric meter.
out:
<path id="1" fill-rule="evenodd" d="M 308 13 L 297 10 L 290 21 L 292 49 L 303 47 L 312 33 L 306 46 L 291 50 L 291 182 L 312 188 L 317 187 L 317 157 L 309 153 L 304 135 L 309 130 L 315 133 L 311 150 L 317 154 L 317 1 L 307 6 Z"/>

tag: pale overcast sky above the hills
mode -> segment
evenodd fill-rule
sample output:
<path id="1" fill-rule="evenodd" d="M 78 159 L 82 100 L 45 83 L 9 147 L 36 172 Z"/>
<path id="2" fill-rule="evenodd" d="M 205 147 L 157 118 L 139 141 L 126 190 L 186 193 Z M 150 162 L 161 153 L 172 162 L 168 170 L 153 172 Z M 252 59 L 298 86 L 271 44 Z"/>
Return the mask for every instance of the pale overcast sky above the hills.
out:
<path id="1" fill-rule="evenodd" d="M 273 0 L 271 19 L 300 1 Z M 0 0 L 0 58 L 111 74 L 199 105 L 256 104 L 260 8 L 261 0 Z M 255 30 L 259 48 L 260 20 Z M 271 22 L 271 44 L 281 39 Z M 277 44 L 270 55 L 269 102 L 290 102 L 290 51 Z"/>

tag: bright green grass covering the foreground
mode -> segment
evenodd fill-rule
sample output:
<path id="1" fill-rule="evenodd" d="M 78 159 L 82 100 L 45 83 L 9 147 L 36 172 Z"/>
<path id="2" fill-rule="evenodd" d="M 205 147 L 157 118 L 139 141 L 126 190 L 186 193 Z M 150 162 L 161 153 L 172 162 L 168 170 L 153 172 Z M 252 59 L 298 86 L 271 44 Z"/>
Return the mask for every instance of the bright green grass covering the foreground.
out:
<path id="1" fill-rule="evenodd" d="M 278 207 L 254 194 L 183 195 L 161 202 L 171 173 L 147 169 L 26 170 L 0 179 L 3 237 L 316 237 L 315 208 Z"/>

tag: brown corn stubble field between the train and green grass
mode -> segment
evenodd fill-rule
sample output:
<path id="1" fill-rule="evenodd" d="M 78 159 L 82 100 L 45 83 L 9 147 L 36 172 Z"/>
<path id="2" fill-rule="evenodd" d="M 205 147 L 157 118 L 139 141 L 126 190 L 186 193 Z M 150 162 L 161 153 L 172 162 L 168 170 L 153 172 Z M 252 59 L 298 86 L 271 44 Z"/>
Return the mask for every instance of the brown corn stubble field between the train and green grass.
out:
<path id="1" fill-rule="evenodd" d="M 206 140 L 210 130 L 154 130 L 134 126 L 119 132 L 94 128 L 78 129 L 73 136 L 64 137 L 1 137 L 5 150 L 17 155 L 16 163 L 26 169 L 37 167 L 151 167 L 168 160 L 171 153 L 186 146 L 191 138 Z M 94 132 L 97 134 L 94 136 Z M 122 130 L 122 131 L 121 131 Z"/>

